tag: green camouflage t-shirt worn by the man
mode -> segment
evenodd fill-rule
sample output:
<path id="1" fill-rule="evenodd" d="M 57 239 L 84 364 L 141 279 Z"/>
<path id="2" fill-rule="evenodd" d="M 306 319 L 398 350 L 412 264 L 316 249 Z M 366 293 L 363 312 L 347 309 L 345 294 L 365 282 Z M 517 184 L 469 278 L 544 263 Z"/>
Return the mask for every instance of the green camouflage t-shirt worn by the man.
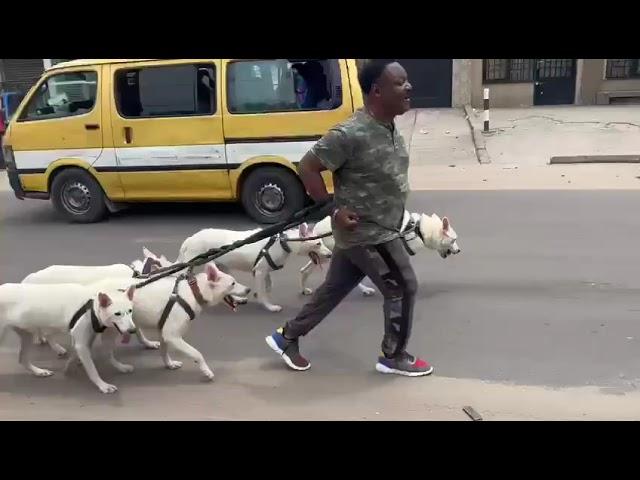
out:
<path id="1" fill-rule="evenodd" d="M 340 248 L 397 238 L 409 194 L 409 154 L 394 125 L 364 109 L 332 128 L 312 148 L 333 173 L 335 201 L 358 214 L 353 231 L 333 227 Z"/>

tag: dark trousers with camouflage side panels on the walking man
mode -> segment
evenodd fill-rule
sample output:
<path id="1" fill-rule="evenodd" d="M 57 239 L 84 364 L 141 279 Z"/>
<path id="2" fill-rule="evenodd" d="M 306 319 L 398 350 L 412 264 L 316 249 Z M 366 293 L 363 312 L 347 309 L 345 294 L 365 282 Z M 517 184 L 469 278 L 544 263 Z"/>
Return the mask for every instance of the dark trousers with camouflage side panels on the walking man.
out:
<path id="1" fill-rule="evenodd" d="M 327 278 L 298 316 L 287 323 L 285 335 L 297 338 L 309 333 L 365 276 L 384 296 L 382 352 L 387 357 L 403 352 L 411 333 L 417 280 L 400 239 L 375 246 L 335 248 Z"/>

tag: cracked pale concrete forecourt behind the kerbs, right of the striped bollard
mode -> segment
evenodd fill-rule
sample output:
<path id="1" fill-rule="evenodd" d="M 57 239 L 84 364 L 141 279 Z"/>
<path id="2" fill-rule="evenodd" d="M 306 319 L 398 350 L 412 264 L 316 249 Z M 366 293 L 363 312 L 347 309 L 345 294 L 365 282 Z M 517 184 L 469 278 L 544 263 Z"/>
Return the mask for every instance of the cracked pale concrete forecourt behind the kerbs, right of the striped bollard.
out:
<path id="1" fill-rule="evenodd" d="M 470 120 L 482 130 L 482 110 Z M 482 134 L 493 164 L 547 165 L 552 157 L 640 155 L 640 105 L 491 109 Z"/>

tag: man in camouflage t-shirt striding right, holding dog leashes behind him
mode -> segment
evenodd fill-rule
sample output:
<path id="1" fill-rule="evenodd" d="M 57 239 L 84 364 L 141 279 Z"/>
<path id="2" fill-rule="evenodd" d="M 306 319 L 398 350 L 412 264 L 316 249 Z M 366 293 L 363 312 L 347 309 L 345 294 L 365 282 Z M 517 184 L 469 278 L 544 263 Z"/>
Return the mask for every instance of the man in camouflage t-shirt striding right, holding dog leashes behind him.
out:
<path id="1" fill-rule="evenodd" d="M 298 339 L 316 327 L 368 276 L 384 296 L 384 338 L 376 370 L 423 376 L 433 367 L 407 353 L 416 276 L 399 238 L 409 193 L 409 155 L 394 119 L 409 110 L 411 84 L 396 62 L 372 61 L 359 75 L 365 107 L 331 129 L 300 163 L 300 176 L 317 201 L 328 200 L 321 172 L 335 185 L 336 246 L 324 283 L 298 316 L 266 338 L 294 370 L 307 370 Z"/>

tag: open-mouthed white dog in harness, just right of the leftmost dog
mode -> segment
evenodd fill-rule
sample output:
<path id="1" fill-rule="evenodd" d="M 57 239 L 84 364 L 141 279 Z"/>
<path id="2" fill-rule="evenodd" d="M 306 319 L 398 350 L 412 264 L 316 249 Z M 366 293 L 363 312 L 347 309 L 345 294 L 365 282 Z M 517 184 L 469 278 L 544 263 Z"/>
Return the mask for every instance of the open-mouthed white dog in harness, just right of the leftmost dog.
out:
<path id="1" fill-rule="evenodd" d="M 167 368 L 175 370 L 182 362 L 172 360 L 169 348 L 178 350 L 191 358 L 208 380 L 213 371 L 202 354 L 184 341 L 192 320 L 202 312 L 205 305 L 213 306 L 225 302 L 235 309 L 231 293 L 237 288 L 231 275 L 221 272 L 215 263 L 205 266 L 205 272 L 194 275 L 192 281 L 182 276 L 165 277 L 136 290 L 133 299 L 133 322 L 138 328 L 155 328 L 160 333 L 160 353 Z M 92 287 L 127 288 L 131 279 L 105 279 Z M 245 287 L 246 288 L 246 287 Z M 248 291 L 243 292 L 248 294 Z M 68 365 L 74 361 L 70 358 Z"/>

